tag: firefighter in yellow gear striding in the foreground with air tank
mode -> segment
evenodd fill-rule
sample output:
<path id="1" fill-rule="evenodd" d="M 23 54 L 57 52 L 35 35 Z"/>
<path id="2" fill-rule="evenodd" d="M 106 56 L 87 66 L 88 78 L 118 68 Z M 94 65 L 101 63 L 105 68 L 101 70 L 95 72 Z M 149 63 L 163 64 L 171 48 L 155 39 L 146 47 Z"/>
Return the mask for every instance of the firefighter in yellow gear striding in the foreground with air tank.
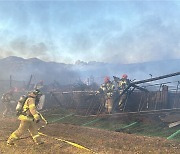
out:
<path id="1" fill-rule="evenodd" d="M 30 132 L 33 141 L 37 145 L 43 143 L 39 138 L 37 126 L 37 123 L 41 120 L 41 116 L 36 109 L 41 96 L 42 93 L 38 89 L 28 94 L 28 97 L 22 107 L 22 112 L 18 117 L 20 120 L 19 128 L 10 135 L 7 140 L 7 145 L 14 145 L 14 141 L 19 139 L 20 136 L 27 130 Z"/>

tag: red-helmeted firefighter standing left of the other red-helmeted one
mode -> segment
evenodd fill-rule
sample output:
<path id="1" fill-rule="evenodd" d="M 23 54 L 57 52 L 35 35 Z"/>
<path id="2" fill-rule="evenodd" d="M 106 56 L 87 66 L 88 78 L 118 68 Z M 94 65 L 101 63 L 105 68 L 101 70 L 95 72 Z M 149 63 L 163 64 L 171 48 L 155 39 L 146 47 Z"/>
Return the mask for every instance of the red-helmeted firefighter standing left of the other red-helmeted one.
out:
<path id="1" fill-rule="evenodd" d="M 111 113 L 113 109 L 113 95 L 114 95 L 114 84 L 110 81 L 110 78 L 106 76 L 104 83 L 100 86 L 97 93 L 104 93 L 105 95 L 105 109 L 107 113 Z"/>

